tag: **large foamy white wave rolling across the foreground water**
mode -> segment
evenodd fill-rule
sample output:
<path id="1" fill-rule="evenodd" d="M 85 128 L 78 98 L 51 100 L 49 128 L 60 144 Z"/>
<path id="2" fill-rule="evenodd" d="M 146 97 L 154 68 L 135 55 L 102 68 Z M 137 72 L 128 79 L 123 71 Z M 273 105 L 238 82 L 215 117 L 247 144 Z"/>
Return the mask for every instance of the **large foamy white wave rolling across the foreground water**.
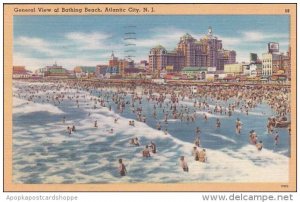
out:
<path id="1" fill-rule="evenodd" d="M 94 96 L 80 93 L 86 95 L 84 101 L 92 103 L 90 98 Z M 14 113 L 16 110 L 19 113 L 26 111 L 24 100 L 14 98 L 14 102 Z M 39 183 L 288 181 L 289 158 L 286 156 L 266 149 L 259 152 L 254 146 L 247 145 L 238 150 L 206 149 L 208 162 L 200 163 L 194 161 L 191 155 L 194 147 L 192 143 L 179 140 L 169 133 L 164 134 L 143 122 L 136 121 L 135 126 L 129 126 L 131 119 L 107 108 L 92 109 L 91 103 L 81 108 L 81 113 L 91 113 L 90 116 L 86 115 L 76 121 L 77 131 L 70 137 L 65 131 L 66 125 L 48 124 L 33 131 L 38 132 L 41 138 L 32 141 L 20 134 L 22 128 L 18 126 L 19 130 L 14 131 L 13 142 L 19 146 L 13 155 L 14 159 L 20 158 L 22 161 L 13 161 L 14 182 L 30 182 L 33 178 L 31 173 L 38 176 L 35 179 L 39 179 Z M 46 110 L 61 113 L 53 105 L 37 103 L 29 103 L 27 113 L 44 110 L 45 105 Z M 117 123 L 114 123 L 115 118 L 118 118 Z M 93 127 L 95 120 L 98 121 L 98 128 Z M 72 120 L 68 120 L 67 124 L 73 124 Z M 110 129 L 113 129 L 112 133 Z M 32 132 L 30 130 L 28 132 Z M 236 143 L 220 134 L 210 135 Z M 134 137 L 139 138 L 141 146 L 129 145 L 129 140 Z M 151 141 L 156 143 L 158 152 L 144 159 L 141 152 Z M 22 148 L 25 144 L 26 148 Z M 23 156 L 28 156 L 28 163 L 24 163 Z M 185 156 L 187 160 L 188 173 L 183 172 L 179 166 L 180 156 Z M 117 171 L 119 158 L 123 159 L 128 170 L 127 176 L 123 178 L 119 177 Z M 40 164 L 48 169 L 38 170 L 35 168 L 36 162 L 42 162 Z"/>

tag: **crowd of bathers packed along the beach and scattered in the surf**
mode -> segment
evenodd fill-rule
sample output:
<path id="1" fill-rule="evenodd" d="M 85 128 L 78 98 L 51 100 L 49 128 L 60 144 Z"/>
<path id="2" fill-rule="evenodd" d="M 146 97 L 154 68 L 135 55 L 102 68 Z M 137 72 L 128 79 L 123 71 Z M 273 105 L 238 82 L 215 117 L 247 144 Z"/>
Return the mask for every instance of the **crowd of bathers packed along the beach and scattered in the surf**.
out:
<path id="1" fill-rule="evenodd" d="M 77 108 L 87 105 L 82 100 L 92 101 L 92 109 L 106 107 L 109 110 L 115 110 L 122 115 L 125 110 L 130 111 L 135 119 L 129 121 L 129 126 L 134 127 L 135 121 L 147 123 L 151 118 L 157 120 L 156 129 L 158 132 L 168 134 L 169 119 L 179 120 L 180 122 L 192 123 L 202 118 L 208 122 L 209 114 L 218 114 L 223 116 L 232 116 L 235 112 L 249 115 L 252 109 L 261 103 L 267 103 L 273 110 L 274 116 L 288 117 L 290 114 L 290 88 L 270 85 L 223 85 L 223 86 L 201 86 L 197 92 L 192 91 L 188 85 L 158 85 L 158 84 L 140 84 L 134 83 L 102 83 L 92 81 L 47 81 L 45 85 L 34 85 L 35 81 L 30 81 L 33 85 L 19 86 L 14 96 L 27 100 L 28 102 L 51 103 L 55 106 L 62 106 L 65 101 L 72 102 Z M 38 80 L 39 83 L 42 81 Z M 79 91 L 85 91 L 90 94 L 80 95 Z M 69 93 L 67 93 L 69 92 Z M 70 93 L 71 92 L 71 93 Z M 41 93 L 44 96 L 41 96 Z M 186 103 L 186 100 L 192 101 L 192 106 Z M 144 109 L 145 103 L 151 106 L 151 115 Z M 211 106 L 210 103 L 215 103 Z M 203 115 L 197 114 L 197 111 L 206 111 Z M 264 112 L 262 112 L 264 113 Z M 87 116 L 90 116 L 90 112 Z M 266 120 L 266 130 L 274 136 L 274 145 L 279 144 L 278 131 L 274 130 L 274 123 L 271 118 Z M 114 120 L 117 123 L 118 118 Z M 63 117 L 63 124 L 66 123 L 66 117 Z M 232 127 L 235 128 L 237 135 L 242 132 L 243 122 L 237 118 Z M 76 131 L 76 124 L 67 127 L 68 135 Z M 98 120 L 94 120 L 93 127 L 98 128 Z M 222 124 L 219 118 L 215 122 L 216 128 L 221 128 Z M 290 129 L 289 129 L 290 130 Z M 114 129 L 109 130 L 110 133 Z M 201 163 L 207 162 L 206 149 L 201 146 L 201 130 L 195 129 L 194 147 L 192 156 L 195 161 Z M 261 151 L 263 148 L 262 140 L 259 140 L 256 132 L 249 132 L 249 143 L 256 146 Z M 129 145 L 141 146 L 137 137 L 130 139 Z M 144 145 L 142 157 L 150 158 L 157 153 L 156 144 L 151 141 Z M 188 164 L 185 156 L 179 158 L 180 166 L 183 171 L 188 172 Z M 119 173 L 125 176 L 127 173 L 125 164 L 119 159 Z"/>

